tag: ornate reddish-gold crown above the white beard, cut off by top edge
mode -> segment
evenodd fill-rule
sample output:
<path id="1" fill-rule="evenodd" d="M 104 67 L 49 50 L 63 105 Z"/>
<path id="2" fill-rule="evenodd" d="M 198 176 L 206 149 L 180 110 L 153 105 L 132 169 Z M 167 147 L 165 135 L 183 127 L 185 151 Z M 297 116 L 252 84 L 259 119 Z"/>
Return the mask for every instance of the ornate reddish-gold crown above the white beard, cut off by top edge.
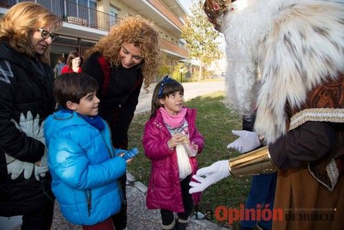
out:
<path id="1" fill-rule="evenodd" d="M 235 0 L 233 0 L 235 1 Z M 228 11 L 235 10 L 230 5 L 233 1 L 230 0 L 206 0 L 204 1 L 203 10 L 206 12 L 208 20 L 213 23 L 215 30 L 221 32 L 221 15 Z"/>

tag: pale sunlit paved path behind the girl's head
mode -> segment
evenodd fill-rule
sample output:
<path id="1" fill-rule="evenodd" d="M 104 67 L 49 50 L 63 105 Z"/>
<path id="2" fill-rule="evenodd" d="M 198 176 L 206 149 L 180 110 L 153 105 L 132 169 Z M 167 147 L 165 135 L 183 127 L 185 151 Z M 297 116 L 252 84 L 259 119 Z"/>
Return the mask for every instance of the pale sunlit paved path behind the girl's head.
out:
<path id="1" fill-rule="evenodd" d="M 209 94 L 211 92 L 216 92 L 219 90 L 224 90 L 224 79 L 219 79 L 220 81 L 213 82 L 202 82 L 202 83 L 182 83 L 184 87 L 184 99 L 189 101 L 197 96 L 202 96 L 204 94 Z M 151 98 L 153 95 L 153 90 L 156 84 L 152 84 L 149 87 L 149 92 L 142 90 L 138 98 L 138 106 L 136 107 L 135 114 L 140 112 L 146 112 L 151 110 Z"/>

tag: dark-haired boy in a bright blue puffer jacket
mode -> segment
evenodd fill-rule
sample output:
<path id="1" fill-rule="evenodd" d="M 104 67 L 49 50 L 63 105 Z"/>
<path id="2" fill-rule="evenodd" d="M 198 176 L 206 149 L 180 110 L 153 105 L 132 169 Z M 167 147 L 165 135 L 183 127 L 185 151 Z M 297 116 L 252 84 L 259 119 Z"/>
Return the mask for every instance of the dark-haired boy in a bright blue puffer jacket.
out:
<path id="1" fill-rule="evenodd" d="M 83 229 L 114 229 L 120 211 L 118 178 L 125 174 L 122 149 L 111 145 L 109 128 L 98 116 L 98 83 L 82 73 L 55 80 L 54 98 L 61 109 L 44 124 L 52 191 L 61 213 Z"/>

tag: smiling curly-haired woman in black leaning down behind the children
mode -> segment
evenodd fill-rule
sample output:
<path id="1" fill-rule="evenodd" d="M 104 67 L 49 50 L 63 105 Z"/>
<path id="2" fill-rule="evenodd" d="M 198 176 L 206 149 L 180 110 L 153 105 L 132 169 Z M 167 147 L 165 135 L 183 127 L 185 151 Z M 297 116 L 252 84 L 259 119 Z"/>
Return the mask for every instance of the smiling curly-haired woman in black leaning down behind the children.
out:
<path id="1" fill-rule="evenodd" d="M 128 129 L 138 105 L 142 83 L 147 90 L 160 62 L 159 32 L 140 16 L 126 17 L 87 52 L 83 72 L 100 85 L 99 114 L 110 125 L 114 147 L 127 149 Z M 120 178 L 125 195 L 124 175 Z M 127 225 L 127 200 L 112 219 L 116 229 Z"/>

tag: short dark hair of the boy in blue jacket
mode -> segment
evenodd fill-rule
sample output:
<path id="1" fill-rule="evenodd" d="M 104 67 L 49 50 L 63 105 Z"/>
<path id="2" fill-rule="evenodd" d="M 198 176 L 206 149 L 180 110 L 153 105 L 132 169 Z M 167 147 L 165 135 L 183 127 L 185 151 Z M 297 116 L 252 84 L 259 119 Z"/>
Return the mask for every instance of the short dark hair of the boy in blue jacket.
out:
<path id="1" fill-rule="evenodd" d="M 67 101 L 80 103 L 83 96 L 97 90 L 96 79 L 88 74 L 73 72 L 61 74 L 55 79 L 53 94 L 58 105 L 67 109 Z"/>

